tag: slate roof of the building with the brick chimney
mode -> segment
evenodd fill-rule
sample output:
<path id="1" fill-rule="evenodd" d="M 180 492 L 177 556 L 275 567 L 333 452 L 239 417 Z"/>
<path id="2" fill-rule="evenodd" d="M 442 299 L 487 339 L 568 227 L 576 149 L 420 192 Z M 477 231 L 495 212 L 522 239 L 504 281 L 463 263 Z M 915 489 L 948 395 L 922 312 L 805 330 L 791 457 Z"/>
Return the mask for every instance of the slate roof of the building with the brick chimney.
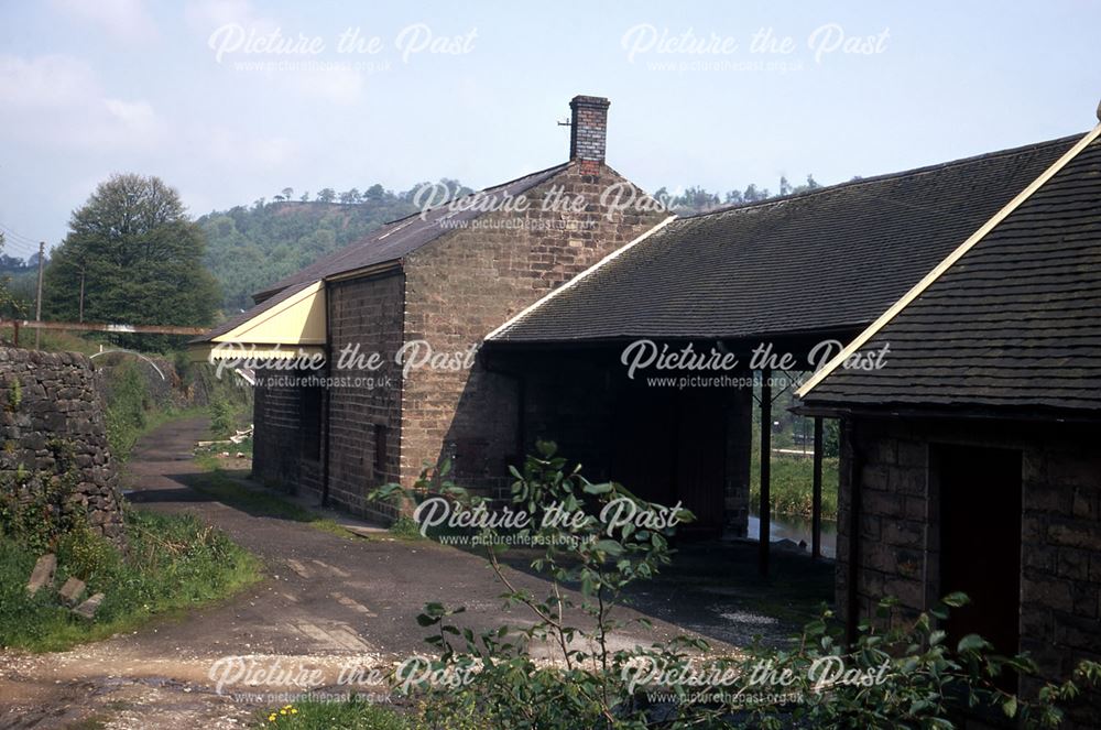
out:
<path id="1" fill-rule="evenodd" d="M 569 164 L 568 162 L 563 163 L 523 177 L 517 177 L 508 183 L 487 187 L 480 190 L 480 194 L 487 196 L 482 199 L 503 199 L 505 196 L 516 197 L 550 179 L 568 167 Z M 193 339 L 192 342 L 205 342 L 219 335 L 225 335 L 314 282 L 359 269 L 366 269 L 374 264 L 400 261 L 421 247 L 455 230 L 462 222 L 473 220 L 489 213 L 477 205 L 467 208 L 456 205 L 455 208 L 442 206 L 429 210 L 424 216 L 414 214 L 380 227 L 367 238 L 346 246 L 327 257 L 323 257 L 302 271 L 272 284 L 262 292 L 258 292 L 253 295 L 253 298 L 259 301 L 254 307 L 242 312 L 229 322 L 222 323 L 205 335 Z"/>

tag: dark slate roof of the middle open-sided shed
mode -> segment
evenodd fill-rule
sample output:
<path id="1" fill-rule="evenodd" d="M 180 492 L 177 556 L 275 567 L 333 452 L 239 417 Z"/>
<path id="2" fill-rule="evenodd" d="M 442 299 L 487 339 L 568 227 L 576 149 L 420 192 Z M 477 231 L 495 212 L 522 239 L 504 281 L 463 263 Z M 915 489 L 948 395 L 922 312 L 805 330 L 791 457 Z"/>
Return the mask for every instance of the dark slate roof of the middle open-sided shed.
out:
<path id="1" fill-rule="evenodd" d="M 1078 139 L 675 220 L 491 341 L 854 334 Z"/>

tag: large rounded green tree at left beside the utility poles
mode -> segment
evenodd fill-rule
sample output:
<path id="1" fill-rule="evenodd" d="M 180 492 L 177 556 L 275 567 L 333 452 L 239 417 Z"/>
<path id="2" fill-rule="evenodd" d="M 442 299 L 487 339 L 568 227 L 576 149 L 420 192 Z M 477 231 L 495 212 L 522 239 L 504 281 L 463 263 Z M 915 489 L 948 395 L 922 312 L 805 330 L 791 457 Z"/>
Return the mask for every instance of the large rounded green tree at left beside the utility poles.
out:
<path id="1" fill-rule="evenodd" d="M 75 320 L 85 282 L 87 322 L 206 326 L 220 294 L 203 265 L 206 239 L 179 194 L 159 177 L 115 175 L 73 213 L 45 271 L 50 317 Z M 121 336 L 126 347 L 164 348 L 162 336 Z"/>

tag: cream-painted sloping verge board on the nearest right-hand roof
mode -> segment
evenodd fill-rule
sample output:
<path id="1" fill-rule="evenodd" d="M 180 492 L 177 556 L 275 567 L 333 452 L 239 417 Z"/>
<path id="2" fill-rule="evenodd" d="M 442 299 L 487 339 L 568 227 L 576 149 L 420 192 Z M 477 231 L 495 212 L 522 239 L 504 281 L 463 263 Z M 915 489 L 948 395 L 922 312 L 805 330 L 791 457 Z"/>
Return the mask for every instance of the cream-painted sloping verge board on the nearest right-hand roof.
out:
<path id="1" fill-rule="evenodd" d="M 1058 160 L 1055 161 L 1051 166 L 1040 173 L 1039 177 L 1034 179 L 1025 189 L 1021 190 L 1012 200 L 1006 203 L 1001 210 L 995 213 L 990 220 L 983 224 L 977 231 L 971 233 L 966 241 L 959 244 L 955 251 L 949 253 L 944 261 L 937 264 L 933 271 L 927 273 L 922 281 L 915 284 L 908 292 L 903 294 L 902 298 L 895 302 L 891 307 L 887 308 L 882 315 L 876 318 L 871 325 L 868 326 L 864 331 L 857 335 L 857 337 L 849 342 L 844 348 L 841 349 L 838 355 L 826 363 L 821 370 L 816 372 L 814 377 L 810 378 L 806 383 L 803 384 L 795 394 L 804 399 L 810 391 L 813 391 L 818 383 L 828 378 L 830 373 L 837 370 L 842 362 L 848 360 L 854 352 L 860 350 L 868 340 L 876 335 L 883 327 L 885 327 L 892 319 L 894 319 L 900 312 L 906 308 L 911 302 L 920 296 L 920 294 L 933 285 L 940 276 L 948 271 L 952 265 L 956 264 L 968 251 L 970 251 L 974 246 L 981 241 L 986 235 L 998 227 L 1005 218 L 1007 218 L 1014 210 L 1016 210 L 1025 200 L 1027 200 L 1032 195 L 1043 187 L 1049 179 L 1058 174 L 1067 163 L 1077 157 L 1082 150 L 1090 145 L 1094 140 L 1101 137 L 1101 124 L 1098 124 L 1092 130 L 1087 132 L 1078 142 L 1067 150 Z M 1069 139 L 1069 138 L 1068 138 Z M 1023 148 L 1022 148 L 1023 149 Z M 1020 150 L 1018 150 L 1020 151 Z"/>

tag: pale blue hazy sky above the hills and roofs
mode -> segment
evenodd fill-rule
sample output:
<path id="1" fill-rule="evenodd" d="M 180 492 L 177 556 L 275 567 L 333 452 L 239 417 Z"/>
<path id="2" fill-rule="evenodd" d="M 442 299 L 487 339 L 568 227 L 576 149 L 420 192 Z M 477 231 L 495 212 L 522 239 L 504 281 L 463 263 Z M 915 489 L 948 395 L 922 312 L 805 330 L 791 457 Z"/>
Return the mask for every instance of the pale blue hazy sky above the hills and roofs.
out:
<path id="1" fill-rule="evenodd" d="M 115 172 L 196 216 L 491 185 L 565 160 L 576 94 L 611 99 L 609 163 L 647 189 L 837 183 L 1086 131 L 1098 28 L 1098 0 L 0 0 L 0 226 L 10 253 L 55 244 Z M 242 40 L 276 29 L 299 46 Z"/>

